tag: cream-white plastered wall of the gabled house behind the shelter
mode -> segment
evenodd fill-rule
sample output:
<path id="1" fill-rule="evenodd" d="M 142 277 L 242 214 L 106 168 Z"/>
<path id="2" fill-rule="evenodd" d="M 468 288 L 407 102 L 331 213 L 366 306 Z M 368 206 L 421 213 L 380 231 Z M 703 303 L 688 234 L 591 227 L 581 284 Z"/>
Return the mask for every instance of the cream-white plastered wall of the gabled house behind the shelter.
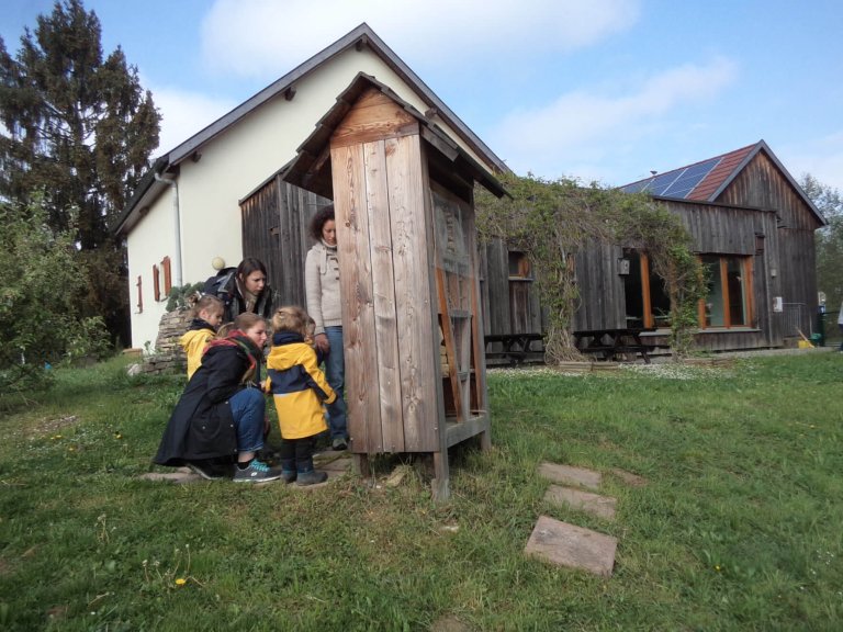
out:
<path id="1" fill-rule="evenodd" d="M 179 208 L 181 216 L 182 283 L 204 281 L 214 273 L 211 260 L 222 257 L 237 266 L 244 255 L 239 201 L 295 157 L 295 149 L 315 129 L 316 122 L 336 103 L 336 98 L 358 72 L 375 77 L 420 112 L 425 103 L 383 61 L 368 49 L 347 49 L 295 82 L 295 98 L 279 94 L 199 148 L 199 161 L 180 163 Z M 441 122 L 456 142 L 483 162 Z M 186 138 L 187 140 L 187 138 Z M 144 312 L 132 314 L 132 345 L 155 343 L 162 306 L 147 303 L 151 292 L 151 266 L 161 260 L 164 247 L 175 250 L 172 195 L 168 189 L 149 214 L 128 236 L 130 290 L 133 302 L 137 275 L 144 274 Z M 154 219 L 153 219 L 154 216 Z M 165 252 L 173 258 L 172 252 Z M 147 283 L 147 276 L 149 283 Z M 173 280 L 177 271 L 173 270 Z M 175 283 L 175 281 L 173 281 Z M 133 303 L 133 304 L 134 304 Z M 148 305 L 148 307 L 147 307 Z"/>

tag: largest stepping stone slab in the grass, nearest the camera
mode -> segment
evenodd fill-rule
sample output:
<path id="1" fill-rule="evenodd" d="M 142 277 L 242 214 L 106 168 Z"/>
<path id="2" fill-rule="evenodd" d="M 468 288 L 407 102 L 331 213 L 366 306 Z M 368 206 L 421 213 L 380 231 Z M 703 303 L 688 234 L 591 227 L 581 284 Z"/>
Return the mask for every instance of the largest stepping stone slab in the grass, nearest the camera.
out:
<path id="1" fill-rule="evenodd" d="M 539 516 L 524 552 L 571 568 L 611 577 L 618 540 L 567 522 Z"/>

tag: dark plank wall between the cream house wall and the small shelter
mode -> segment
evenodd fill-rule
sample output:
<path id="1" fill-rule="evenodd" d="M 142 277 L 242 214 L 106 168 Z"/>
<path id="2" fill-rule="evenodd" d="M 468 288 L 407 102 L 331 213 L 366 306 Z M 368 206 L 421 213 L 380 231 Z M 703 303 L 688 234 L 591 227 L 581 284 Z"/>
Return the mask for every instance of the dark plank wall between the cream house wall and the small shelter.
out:
<path id="1" fill-rule="evenodd" d="M 330 200 L 276 177 L 240 204 L 244 257 L 267 266 L 278 305 L 306 307 L 304 259 L 311 247 L 307 226 Z"/>

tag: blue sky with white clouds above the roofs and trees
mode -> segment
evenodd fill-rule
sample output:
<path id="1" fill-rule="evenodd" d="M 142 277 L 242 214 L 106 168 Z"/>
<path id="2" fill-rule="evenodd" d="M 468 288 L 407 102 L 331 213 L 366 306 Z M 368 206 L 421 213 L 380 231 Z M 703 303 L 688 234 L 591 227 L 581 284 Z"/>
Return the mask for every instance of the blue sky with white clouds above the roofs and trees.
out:
<path id="1" fill-rule="evenodd" d="M 840 0 L 86 0 L 165 153 L 368 22 L 516 172 L 625 184 L 764 139 L 843 190 Z M 0 2 L 18 49 L 47 0 Z M 310 131 L 303 131 L 303 138 Z"/>

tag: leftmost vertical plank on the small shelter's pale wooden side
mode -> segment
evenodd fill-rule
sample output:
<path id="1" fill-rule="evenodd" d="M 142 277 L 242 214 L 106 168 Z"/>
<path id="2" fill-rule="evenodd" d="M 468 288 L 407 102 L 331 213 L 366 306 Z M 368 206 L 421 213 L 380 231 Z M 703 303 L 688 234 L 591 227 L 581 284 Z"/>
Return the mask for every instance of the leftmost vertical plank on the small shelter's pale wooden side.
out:
<path id="1" fill-rule="evenodd" d="M 337 255 L 342 270 L 348 427 L 355 452 L 372 454 L 381 451 L 383 436 L 363 148 L 361 145 L 331 148 L 330 160 Z"/>

